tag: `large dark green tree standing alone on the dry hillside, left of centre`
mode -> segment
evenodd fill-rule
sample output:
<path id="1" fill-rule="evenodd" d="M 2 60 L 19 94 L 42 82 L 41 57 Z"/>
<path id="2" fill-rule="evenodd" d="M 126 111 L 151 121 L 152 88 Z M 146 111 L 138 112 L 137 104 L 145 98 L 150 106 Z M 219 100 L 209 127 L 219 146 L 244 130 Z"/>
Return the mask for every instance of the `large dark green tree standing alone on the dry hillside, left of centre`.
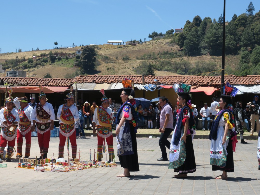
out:
<path id="1" fill-rule="evenodd" d="M 84 73 L 95 69 L 96 50 L 95 46 L 84 46 L 80 55 L 81 66 Z"/>

